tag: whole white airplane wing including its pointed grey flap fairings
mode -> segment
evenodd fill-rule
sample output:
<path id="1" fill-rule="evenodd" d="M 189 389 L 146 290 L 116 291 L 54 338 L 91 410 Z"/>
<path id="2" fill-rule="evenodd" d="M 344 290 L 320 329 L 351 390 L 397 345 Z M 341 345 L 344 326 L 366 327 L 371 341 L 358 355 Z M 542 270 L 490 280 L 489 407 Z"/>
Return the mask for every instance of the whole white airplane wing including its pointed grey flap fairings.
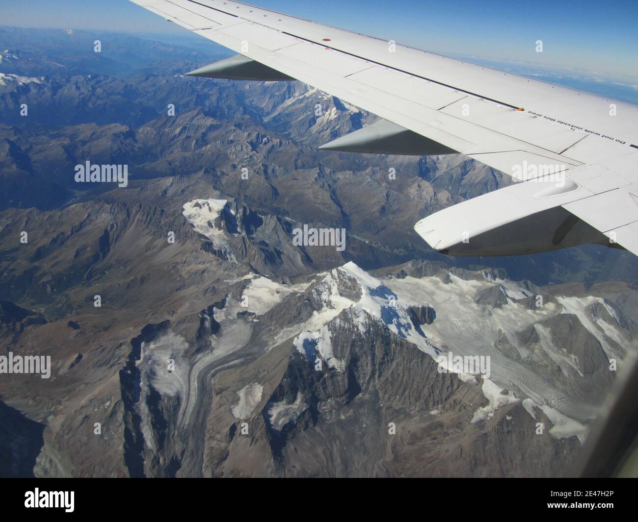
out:
<path id="1" fill-rule="evenodd" d="M 516 183 L 415 225 L 451 255 L 638 254 L 638 108 L 228 0 L 131 0 L 238 55 L 189 73 L 297 79 L 382 117 L 322 149 L 461 153 Z"/>

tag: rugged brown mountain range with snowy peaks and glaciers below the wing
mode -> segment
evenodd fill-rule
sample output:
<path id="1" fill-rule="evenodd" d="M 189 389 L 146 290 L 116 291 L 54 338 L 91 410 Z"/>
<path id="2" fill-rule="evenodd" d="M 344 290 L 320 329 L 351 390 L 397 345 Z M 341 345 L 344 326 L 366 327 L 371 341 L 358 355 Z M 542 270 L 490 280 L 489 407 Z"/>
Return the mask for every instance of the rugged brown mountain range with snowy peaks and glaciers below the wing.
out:
<path id="1" fill-rule="evenodd" d="M 433 252 L 415 222 L 510 180 L 318 150 L 375 116 L 184 76 L 221 48 L 2 27 L 0 53 L 0 354 L 52 360 L 0 375 L 0 474 L 570 469 L 635 346 L 633 256 Z M 85 161 L 128 186 L 78 184 Z M 304 225 L 345 249 L 295 245 Z"/>

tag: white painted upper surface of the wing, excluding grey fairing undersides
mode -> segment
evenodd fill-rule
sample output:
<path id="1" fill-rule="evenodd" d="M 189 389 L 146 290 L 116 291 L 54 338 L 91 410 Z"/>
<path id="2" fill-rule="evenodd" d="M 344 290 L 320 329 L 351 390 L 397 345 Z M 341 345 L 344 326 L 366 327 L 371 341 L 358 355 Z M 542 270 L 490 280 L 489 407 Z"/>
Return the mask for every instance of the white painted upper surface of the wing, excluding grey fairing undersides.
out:
<path id="1" fill-rule="evenodd" d="M 459 226 L 479 233 L 562 205 L 638 254 L 634 105 L 398 44 L 390 52 L 387 41 L 248 4 L 131 1 L 509 175 L 549 164 L 577 184 L 538 199 L 525 182 L 426 217 L 415 228 L 435 249 L 454 244 Z"/>

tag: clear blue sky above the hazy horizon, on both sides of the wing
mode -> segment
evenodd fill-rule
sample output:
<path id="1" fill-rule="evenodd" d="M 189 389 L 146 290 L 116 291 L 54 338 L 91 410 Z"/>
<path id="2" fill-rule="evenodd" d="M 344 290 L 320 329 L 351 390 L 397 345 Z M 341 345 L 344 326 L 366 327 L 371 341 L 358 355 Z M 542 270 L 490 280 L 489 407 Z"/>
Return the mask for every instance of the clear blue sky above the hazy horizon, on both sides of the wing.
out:
<path id="1" fill-rule="evenodd" d="M 128 0 L 4 1 L 2 25 L 165 34 L 188 31 Z M 638 1 L 253 0 L 253 4 L 398 43 L 519 62 L 638 92 Z M 195 36 L 194 36 L 195 37 Z M 535 52 L 542 40 L 544 52 Z"/>

